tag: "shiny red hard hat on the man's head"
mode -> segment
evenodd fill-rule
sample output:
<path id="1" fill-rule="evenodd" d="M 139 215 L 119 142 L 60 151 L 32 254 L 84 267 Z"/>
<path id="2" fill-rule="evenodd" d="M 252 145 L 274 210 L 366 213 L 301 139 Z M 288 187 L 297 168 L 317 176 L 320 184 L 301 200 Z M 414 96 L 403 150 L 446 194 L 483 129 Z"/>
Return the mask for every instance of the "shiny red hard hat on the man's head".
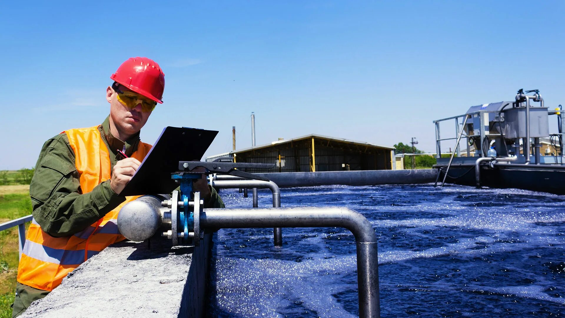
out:
<path id="1" fill-rule="evenodd" d="M 133 92 L 163 104 L 165 74 L 159 65 L 150 58 L 131 57 L 121 63 L 110 79 L 124 85 Z"/>

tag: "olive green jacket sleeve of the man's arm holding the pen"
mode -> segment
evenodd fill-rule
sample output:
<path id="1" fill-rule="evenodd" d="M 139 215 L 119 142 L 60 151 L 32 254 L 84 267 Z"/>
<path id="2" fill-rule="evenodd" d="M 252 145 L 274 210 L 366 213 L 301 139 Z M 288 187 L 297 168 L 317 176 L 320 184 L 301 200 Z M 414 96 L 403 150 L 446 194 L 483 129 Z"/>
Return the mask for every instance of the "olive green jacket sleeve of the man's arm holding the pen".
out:
<path id="1" fill-rule="evenodd" d="M 41 149 L 29 195 L 33 218 L 54 237 L 86 229 L 125 201 L 112 191 L 109 180 L 82 194 L 75 153 L 64 133 L 47 140 Z"/>

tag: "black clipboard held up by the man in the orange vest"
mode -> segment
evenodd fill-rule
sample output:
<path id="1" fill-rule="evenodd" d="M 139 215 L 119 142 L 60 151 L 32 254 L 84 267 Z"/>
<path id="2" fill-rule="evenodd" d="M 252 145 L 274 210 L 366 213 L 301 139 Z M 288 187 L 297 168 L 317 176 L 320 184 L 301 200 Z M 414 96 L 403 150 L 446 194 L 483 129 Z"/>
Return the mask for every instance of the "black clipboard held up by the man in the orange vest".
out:
<path id="1" fill-rule="evenodd" d="M 201 159 L 216 135 L 215 130 L 165 127 L 120 195 L 168 194 L 175 190 L 179 184 L 171 179 L 171 173 L 179 170 L 179 161 Z"/>

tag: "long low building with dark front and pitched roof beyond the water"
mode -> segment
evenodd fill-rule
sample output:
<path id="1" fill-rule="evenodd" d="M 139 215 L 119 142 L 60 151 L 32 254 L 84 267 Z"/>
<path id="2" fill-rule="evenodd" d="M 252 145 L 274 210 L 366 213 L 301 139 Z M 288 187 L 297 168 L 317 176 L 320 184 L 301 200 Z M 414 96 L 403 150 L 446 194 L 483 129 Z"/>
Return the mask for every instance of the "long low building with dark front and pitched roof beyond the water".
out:
<path id="1" fill-rule="evenodd" d="M 233 156 L 236 162 L 276 164 L 270 170 L 245 170 L 250 173 L 391 170 L 396 164 L 392 161 L 392 147 L 315 134 L 216 154 L 207 157 L 206 161 L 229 156 Z"/>

